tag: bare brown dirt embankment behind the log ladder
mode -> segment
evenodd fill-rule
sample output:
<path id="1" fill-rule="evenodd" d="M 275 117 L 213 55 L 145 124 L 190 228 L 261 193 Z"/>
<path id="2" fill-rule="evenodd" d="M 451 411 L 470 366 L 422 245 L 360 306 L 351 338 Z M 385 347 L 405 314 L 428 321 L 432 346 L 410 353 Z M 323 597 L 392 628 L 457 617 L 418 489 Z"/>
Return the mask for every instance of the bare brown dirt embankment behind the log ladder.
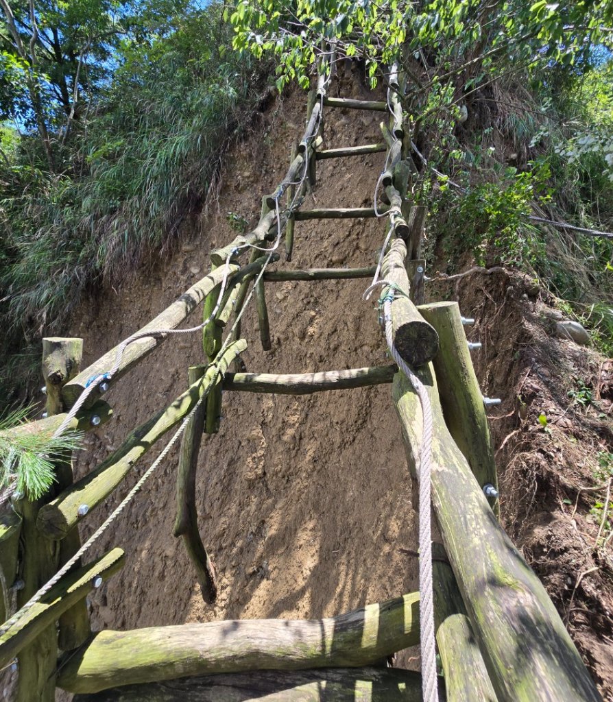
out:
<path id="1" fill-rule="evenodd" d="M 366 97 L 367 91 L 348 81 L 343 95 L 350 94 Z M 302 130 L 304 104 L 297 94 L 275 103 L 263 115 L 263 133 L 258 128 L 230 152 L 218 201 L 209 216 L 195 217 L 186 227 L 195 234 L 183 239 L 183 249 L 82 305 L 65 332 L 84 337 L 85 362 L 202 277 L 210 249 L 236 234 L 229 221 L 237 218 L 228 213 L 256 222 L 261 195 L 284 175 L 289 145 Z M 379 119 L 376 113 L 328 110 L 327 146 L 380 140 Z M 370 206 L 383 158 L 320 161 L 315 196 L 305 207 Z M 384 225 L 376 220 L 296 223 L 294 261 L 287 265 L 373 265 L 383 236 Z M 273 348 L 261 350 L 250 309 L 243 325 L 249 371 L 385 364 L 377 313 L 362 301 L 366 286 L 365 281 L 268 284 Z M 433 284 L 429 294 L 459 298 L 463 314 L 477 318 L 469 332 L 484 345 L 475 354 L 477 375 L 484 395 L 503 398 L 492 411 L 503 522 L 562 614 L 571 610 L 570 629 L 581 653 L 601 689 L 611 694 L 611 570 L 599 562 L 600 569 L 584 576 L 571 597 L 593 561 L 593 528 L 581 516 L 587 503 L 580 502 L 571 519 L 572 505 L 564 502 L 574 503 L 576 485 L 591 484 L 588 454 L 595 455 L 601 444 L 611 450 L 610 428 L 603 430 L 602 420 L 588 418 L 583 408 L 567 410 L 569 399 L 560 390 L 569 373 L 583 373 L 595 360 L 570 342 L 546 336 L 543 300 L 522 277 L 467 277 Z M 88 437 L 79 472 L 91 470 L 131 428 L 179 395 L 187 367 L 202 358 L 199 335 L 171 338 L 122 379 L 107 398 L 114 419 Z M 221 430 L 204 439 L 198 478 L 199 523 L 218 573 L 216 606 L 203 604 L 183 545 L 172 536 L 177 463 L 172 451 L 98 545 L 100 552 L 120 545 L 127 560 L 92 597 L 95 628 L 322 616 L 416 590 L 416 562 L 401 550 L 416 549 L 411 482 L 388 387 L 296 398 L 226 392 L 223 402 Z M 542 411 L 551 417 L 547 434 L 537 420 Z M 568 453 L 569 444 L 575 453 Z M 582 466 L 577 452 L 584 455 Z M 84 522 L 83 536 L 117 505 L 154 455 Z M 409 658 L 403 656 L 402 663 L 410 665 Z"/>

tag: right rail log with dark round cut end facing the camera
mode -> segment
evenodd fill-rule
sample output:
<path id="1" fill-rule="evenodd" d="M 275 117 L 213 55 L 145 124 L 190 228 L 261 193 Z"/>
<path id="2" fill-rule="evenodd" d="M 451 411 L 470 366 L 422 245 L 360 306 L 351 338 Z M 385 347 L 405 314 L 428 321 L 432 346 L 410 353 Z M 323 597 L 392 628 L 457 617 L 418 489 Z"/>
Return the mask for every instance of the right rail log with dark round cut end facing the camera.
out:
<path id="1" fill-rule="evenodd" d="M 381 277 L 404 292 L 396 292 L 392 302 L 394 345 L 410 366 L 423 366 L 437 354 L 438 335 L 409 299 L 409 279 L 404 267 L 406 258 L 407 245 L 402 239 L 395 239 L 383 258 Z"/>

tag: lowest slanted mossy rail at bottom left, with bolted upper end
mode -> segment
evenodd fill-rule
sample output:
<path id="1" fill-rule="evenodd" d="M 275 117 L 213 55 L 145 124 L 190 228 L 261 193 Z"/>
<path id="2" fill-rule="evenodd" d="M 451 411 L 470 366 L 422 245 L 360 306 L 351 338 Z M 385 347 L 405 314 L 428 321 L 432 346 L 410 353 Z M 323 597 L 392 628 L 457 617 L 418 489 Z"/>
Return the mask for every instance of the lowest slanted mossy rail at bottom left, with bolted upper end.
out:
<path id="1" fill-rule="evenodd" d="M 39 602 L 32 604 L 22 616 L 16 619 L 15 623 L 8 626 L 0 635 L 0 668 L 4 667 L 20 652 L 35 642 L 53 625 L 60 616 L 74 607 L 76 602 L 84 600 L 88 592 L 93 590 L 93 578 L 100 576 L 106 581 L 112 574 L 116 573 L 124 564 L 124 552 L 121 548 L 114 548 L 107 554 L 95 559 L 93 562 L 71 571 L 65 575 L 53 588 L 41 597 Z M 53 574 L 52 574 L 53 575 Z M 51 576 L 50 576 L 51 577 Z M 34 594 L 34 593 L 32 593 Z M 15 614 L 15 618 L 19 612 Z M 39 668 L 43 661 L 39 661 Z M 57 661 L 53 659 L 53 670 Z M 20 665 L 20 675 L 24 670 Z M 25 699 L 38 701 L 38 697 L 33 696 L 33 682 L 39 673 L 33 673 L 27 682 L 30 687 L 29 698 Z"/>

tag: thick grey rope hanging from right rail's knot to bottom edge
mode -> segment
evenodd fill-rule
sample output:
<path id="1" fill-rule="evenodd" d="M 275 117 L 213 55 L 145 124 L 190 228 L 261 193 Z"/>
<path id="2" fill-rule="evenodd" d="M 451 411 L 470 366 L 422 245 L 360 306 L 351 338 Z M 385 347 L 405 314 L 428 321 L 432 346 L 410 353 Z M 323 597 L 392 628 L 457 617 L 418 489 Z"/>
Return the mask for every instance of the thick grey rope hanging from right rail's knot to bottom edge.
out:
<path id="1" fill-rule="evenodd" d="M 421 380 L 404 362 L 394 345 L 392 329 L 392 299 L 383 298 L 385 340 L 398 368 L 409 378 L 417 393 L 423 415 L 421 453 L 419 457 L 419 627 L 421 647 L 421 686 L 423 702 L 437 702 L 436 647 L 434 635 L 434 599 L 432 584 L 432 527 L 430 524 L 430 493 L 432 472 L 432 406 L 428 391 Z"/>

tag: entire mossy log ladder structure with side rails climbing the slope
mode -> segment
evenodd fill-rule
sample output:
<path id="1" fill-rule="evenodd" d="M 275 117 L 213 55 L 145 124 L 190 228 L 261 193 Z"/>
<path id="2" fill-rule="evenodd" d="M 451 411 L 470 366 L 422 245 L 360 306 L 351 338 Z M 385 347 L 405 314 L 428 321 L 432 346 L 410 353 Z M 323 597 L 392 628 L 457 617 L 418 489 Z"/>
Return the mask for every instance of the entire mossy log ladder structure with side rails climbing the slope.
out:
<path id="1" fill-rule="evenodd" d="M 252 284 L 261 343 L 267 349 L 268 284 L 364 279 L 375 272 L 374 267 L 271 271 L 267 266 L 278 261 L 279 254 L 251 247 L 278 242 L 284 231 L 286 260 L 291 260 L 296 222 L 377 213 L 388 215 L 389 245 L 382 254 L 381 277 L 394 293 L 393 342 L 426 385 L 433 407 L 432 497 L 443 542 L 434 563 L 435 625 L 447 699 L 599 699 L 539 579 L 499 526 L 496 502 L 489 504 L 483 493 L 489 485 L 495 494 L 496 466 L 459 307 L 423 304 L 426 210 L 407 197 L 416 168 L 404 138 L 402 74 L 396 65 L 388 74 L 388 100 L 349 100 L 326 94 L 326 70 L 310 93 L 305 131 L 291 152 L 286 176 L 263 197 L 257 225 L 211 251 L 211 271 L 143 327 L 141 332 L 150 331 L 151 336 L 122 342 L 80 373 L 79 340 L 45 341 L 48 416 L 15 433 L 57 430 L 67 416 L 72 417 L 67 411 L 93 376 L 118 364 L 112 377 L 116 382 L 165 340 L 168 334 L 160 330 L 177 329 L 201 303 L 205 320 L 218 310 L 203 329 L 207 362 L 190 368 L 188 388 L 175 402 L 134 429 L 84 478 L 73 483 L 70 461 L 58 461 L 60 482 L 54 491 L 36 503 L 21 496 L 12 508 L 0 512 L 0 614 L 5 619 L 10 614 L 11 585 L 20 576 L 25 580 L 18 597 L 22 609 L 0 628 L 0 668 L 18 657 L 19 702 L 34 698 L 51 702 L 56 682 L 77 693 L 77 702 L 209 698 L 224 702 L 244 698 L 245 691 L 285 701 L 421 699 L 418 675 L 369 667 L 418 642 L 416 594 L 319 621 L 222 621 L 90 635 L 84 598 L 121 567 L 123 552 L 114 549 L 65 574 L 28 607 L 30 595 L 79 548 L 81 519 L 103 503 L 136 461 L 186 416 L 190 420 L 180 449 L 174 533 L 183 538 L 204 600 L 215 600 L 215 569 L 196 519 L 196 466 L 202 432 L 218 430 L 222 389 L 304 395 L 389 383 L 409 468 L 412 475 L 418 474 L 421 406 L 395 366 L 277 375 L 242 372 L 239 365 L 239 354 L 246 347 L 240 315 Z M 388 122 L 381 124 L 383 143 L 323 149 L 324 107 L 389 112 Z M 380 180 L 384 204 L 300 209 L 308 189 L 315 187 L 319 161 L 384 151 L 387 160 Z M 247 249 L 249 260 L 241 263 Z M 223 282 L 227 288 L 219 300 Z M 237 362 L 238 372 L 229 372 L 232 362 Z M 67 430 L 92 430 L 110 420 L 112 409 L 100 399 L 99 390 L 103 385 L 91 393 Z M 206 400 L 200 403 L 203 395 Z M 59 667 L 58 647 L 67 651 Z M 173 682 L 165 682 L 169 680 Z"/>

